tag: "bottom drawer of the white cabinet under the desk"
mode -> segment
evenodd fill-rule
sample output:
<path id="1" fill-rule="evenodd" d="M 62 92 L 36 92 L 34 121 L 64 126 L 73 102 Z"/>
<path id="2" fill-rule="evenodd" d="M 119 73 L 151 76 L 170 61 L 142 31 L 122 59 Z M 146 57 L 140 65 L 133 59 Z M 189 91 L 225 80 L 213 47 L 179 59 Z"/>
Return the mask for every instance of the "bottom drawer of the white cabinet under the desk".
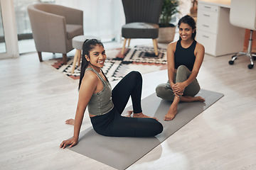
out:
<path id="1" fill-rule="evenodd" d="M 217 35 L 198 30 L 196 40 L 205 47 L 207 54 L 215 56 Z"/>

